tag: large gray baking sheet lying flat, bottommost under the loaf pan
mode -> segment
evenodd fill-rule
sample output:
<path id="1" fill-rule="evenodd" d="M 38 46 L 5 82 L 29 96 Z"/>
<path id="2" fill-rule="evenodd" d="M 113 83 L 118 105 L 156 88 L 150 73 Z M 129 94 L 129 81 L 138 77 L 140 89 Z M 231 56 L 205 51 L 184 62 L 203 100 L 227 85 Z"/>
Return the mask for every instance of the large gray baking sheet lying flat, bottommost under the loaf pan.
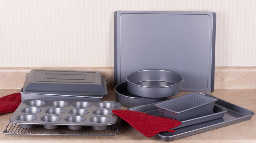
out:
<path id="1" fill-rule="evenodd" d="M 201 93 L 201 94 L 214 97 L 206 93 Z M 202 123 L 194 124 L 187 127 L 182 127 L 182 128 L 176 129 L 174 133 L 161 132 L 155 136 L 164 141 L 172 141 L 172 140 L 176 140 L 186 136 L 199 134 L 202 132 L 210 131 L 210 130 L 231 125 L 234 123 L 249 120 L 254 115 L 253 111 L 250 111 L 243 107 L 226 102 L 222 99 L 219 99 L 219 98 L 217 99 L 218 101 L 216 101 L 215 105 L 218 105 L 220 107 L 227 109 L 227 112 L 224 114 L 223 118 L 202 122 Z"/>

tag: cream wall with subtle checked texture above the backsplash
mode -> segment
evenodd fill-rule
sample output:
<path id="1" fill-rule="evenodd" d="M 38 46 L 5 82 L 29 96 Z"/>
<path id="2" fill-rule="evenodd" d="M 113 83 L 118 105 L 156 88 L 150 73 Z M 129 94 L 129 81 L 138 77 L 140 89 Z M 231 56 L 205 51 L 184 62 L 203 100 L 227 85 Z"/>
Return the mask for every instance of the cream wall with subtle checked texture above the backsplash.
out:
<path id="1" fill-rule="evenodd" d="M 216 66 L 256 66 L 256 0 L 0 0 L 0 67 L 114 66 L 114 11 L 214 11 Z"/>

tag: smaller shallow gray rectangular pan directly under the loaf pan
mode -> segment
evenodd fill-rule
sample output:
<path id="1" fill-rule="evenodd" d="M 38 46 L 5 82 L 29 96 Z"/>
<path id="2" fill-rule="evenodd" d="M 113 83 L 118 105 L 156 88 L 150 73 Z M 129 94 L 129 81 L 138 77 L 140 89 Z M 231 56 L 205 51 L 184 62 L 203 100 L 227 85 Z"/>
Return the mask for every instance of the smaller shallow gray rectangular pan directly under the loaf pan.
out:
<path id="1" fill-rule="evenodd" d="M 141 106 L 129 108 L 127 110 L 143 112 L 143 113 L 147 113 L 147 114 L 150 114 L 150 115 L 153 115 L 153 116 L 159 116 L 158 111 L 157 111 L 157 107 L 154 104 L 155 103 L 147 104 L 147 105 L 141 105 Z M 213 108 L 213 112 L 211 114 L 206 115 L 206 116 L 202 116 L 202 117 L 198 117 L 198 118 L 183 120 L 183 121 L 181 121 L 182 124 L 180 126 L 172 128 L 172 129 L 173 130 L 174 129 L 179 129 L 179 128 L 182 128 L 182 127 L 202 123 L 202 122 L 205 122 L 205 121 L 222 118 L 226 112 L 227 112 L 227 110 L 225 108 L 220 107 L 218 105 L 215 105 L 214 108 Z"/>

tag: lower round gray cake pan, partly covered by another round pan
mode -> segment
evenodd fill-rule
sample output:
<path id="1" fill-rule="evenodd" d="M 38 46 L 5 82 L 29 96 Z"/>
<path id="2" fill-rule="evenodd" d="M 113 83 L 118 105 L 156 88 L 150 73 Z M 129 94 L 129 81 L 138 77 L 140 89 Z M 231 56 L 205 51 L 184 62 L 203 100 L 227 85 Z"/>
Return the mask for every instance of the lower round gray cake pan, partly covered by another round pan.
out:
<path id="1" fill-rule="evenodd" d="M 131 94 L 127 90 L 127 82 L 120 83 L 115 87 L 116 101 L 125 107 L 136 107 L 144 104 L 156 103 L 168 98 L 147 98 Z"/>

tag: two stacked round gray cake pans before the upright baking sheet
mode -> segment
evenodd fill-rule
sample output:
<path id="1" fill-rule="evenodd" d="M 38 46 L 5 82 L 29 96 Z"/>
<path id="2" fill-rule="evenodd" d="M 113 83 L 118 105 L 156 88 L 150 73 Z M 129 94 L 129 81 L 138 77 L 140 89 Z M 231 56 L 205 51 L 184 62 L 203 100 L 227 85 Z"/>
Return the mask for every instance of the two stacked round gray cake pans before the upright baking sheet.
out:
<path id="1" fill-rule="evenodd" d="M 116 100 L 123 106 L 135 107 L 180 93 L 183 77 L 172 71 L 142 70 L 128 74 L 126 80 L 115 87 Z"/>

